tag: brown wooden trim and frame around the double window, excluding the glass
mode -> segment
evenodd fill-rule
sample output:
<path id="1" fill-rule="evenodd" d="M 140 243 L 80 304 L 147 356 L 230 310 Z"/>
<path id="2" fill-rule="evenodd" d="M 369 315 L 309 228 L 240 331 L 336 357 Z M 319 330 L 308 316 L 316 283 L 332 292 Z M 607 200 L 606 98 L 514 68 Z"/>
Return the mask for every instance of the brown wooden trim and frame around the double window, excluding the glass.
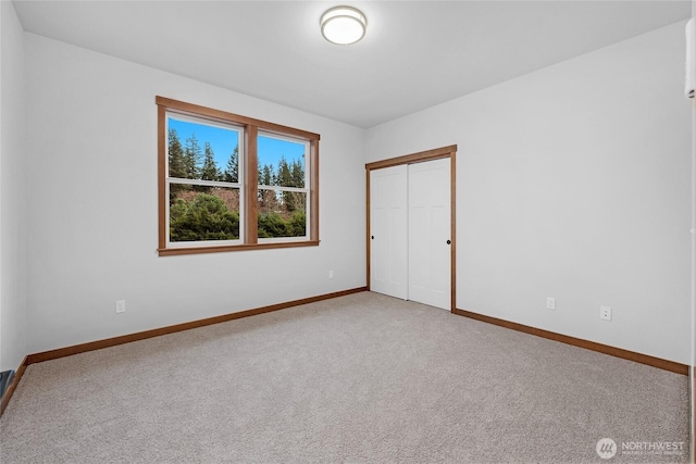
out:
<path id="1" fill-rule="evenodd" d="M 159 96 L 156 97 L 156 103 L 158 105 L 158 253 L 160 256 L 319 246 L 319 140 L 321 138 L 319 134 Z M 166 224 L 166 208 L 169 208 L 169 199 L 166 196 L 166 113 L 178 113 L 196 118 L 244 127 L 245 147 L 243 151 L 246 156 L 246 163 L 244 163 L 245 184 L 243 187 L 245 190 L 243 243 L 214 244 L 214 242 L 212 242 L 210 246 L 166 247 L 166 227 L 169 227 L 169 224 Z M 307 164 L 309 168 L 310 205 L 308 212 L 309 230 L 306 239 L 297 241 L 258 242 L 256 199 L 258 184 L 257 136 L 259 130 L 309 141 L 310 152 Z"/>

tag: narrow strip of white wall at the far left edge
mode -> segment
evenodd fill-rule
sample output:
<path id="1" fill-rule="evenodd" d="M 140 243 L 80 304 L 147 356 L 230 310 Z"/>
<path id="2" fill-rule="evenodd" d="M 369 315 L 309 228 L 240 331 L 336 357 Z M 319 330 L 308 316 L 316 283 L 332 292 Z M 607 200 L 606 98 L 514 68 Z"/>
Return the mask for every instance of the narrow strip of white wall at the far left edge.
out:
<path id="1" fill-rule="evenodd" d="M 26 354 L 24 32 L 0 2 L 0 371 Z"/>

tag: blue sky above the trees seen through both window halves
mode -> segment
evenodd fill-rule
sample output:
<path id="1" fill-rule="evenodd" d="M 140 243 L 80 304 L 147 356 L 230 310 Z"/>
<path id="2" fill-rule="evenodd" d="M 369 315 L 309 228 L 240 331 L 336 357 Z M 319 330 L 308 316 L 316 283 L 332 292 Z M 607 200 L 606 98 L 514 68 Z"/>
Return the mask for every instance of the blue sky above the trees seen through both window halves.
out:
<path id="1" fill-rule="evenodd" d="M 229 154 L 232 154 L 235 147 L 239 143 L 239 133 L 236 130 L 178 121 L 173 117 L 167 117 L 167 124 L 170 129 L 176 129 L 182 147 L 186 147 L 186 140 L 190 138 L 192 134 L 196 134 L 201 154 L 204 153 L 206 142 L 210 142 L 215 163 L 221 171 L 225 170 Z M 265 164 L 274 167 L 277 166 L 281 156 L 285 156 L 285 161 L 288 163 L 294 160 L 299 160 L 302 166 L 304 166 L 304 143 L 259 136 L 258 158 L 262 166 Z"/>

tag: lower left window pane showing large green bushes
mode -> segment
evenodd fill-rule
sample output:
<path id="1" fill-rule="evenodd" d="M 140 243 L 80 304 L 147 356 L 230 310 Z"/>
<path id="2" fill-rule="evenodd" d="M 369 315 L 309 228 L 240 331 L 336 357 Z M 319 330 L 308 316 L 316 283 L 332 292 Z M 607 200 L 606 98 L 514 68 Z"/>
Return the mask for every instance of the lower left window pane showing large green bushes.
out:
<path id="1" fill-rule="evenodd" d="M 170 241 L 239 238 L 239 189 L 170 185 Z"/>

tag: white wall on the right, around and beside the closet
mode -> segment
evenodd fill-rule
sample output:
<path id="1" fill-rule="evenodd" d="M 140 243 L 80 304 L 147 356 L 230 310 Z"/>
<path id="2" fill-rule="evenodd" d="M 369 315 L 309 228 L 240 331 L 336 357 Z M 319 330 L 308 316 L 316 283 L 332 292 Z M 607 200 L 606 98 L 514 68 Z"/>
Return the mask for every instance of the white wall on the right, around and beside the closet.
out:
<path id="1" fill-rule="evenodd" d="M 684 24 L 368 130 L 368 162 L 459 146 L 459 309 L 689 362 Z"/>

